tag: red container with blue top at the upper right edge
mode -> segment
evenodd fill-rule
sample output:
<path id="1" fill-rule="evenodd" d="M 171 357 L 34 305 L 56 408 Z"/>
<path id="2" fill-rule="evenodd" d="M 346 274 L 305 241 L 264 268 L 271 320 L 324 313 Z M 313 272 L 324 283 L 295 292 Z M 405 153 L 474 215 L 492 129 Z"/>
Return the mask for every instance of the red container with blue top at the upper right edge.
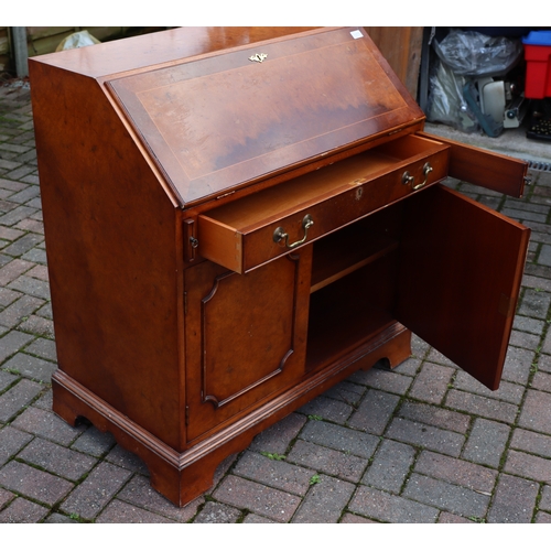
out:
<path id="1" fill-rule="evenodd" d="M 551 31 L 532 31 L 522 39 L 526 60 L 525 97 L 551 97 Z"/>

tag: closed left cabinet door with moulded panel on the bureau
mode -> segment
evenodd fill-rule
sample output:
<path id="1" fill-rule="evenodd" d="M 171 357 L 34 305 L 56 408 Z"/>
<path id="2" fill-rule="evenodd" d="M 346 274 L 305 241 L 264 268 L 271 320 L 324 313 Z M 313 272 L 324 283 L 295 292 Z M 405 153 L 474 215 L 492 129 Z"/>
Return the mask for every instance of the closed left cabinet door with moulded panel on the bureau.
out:
<path id="1" fill-rule="evenodd" d="M 185 272 L 187 440 L 304 374 L 312 247 L 239 274 L 214 262 Z"/>

